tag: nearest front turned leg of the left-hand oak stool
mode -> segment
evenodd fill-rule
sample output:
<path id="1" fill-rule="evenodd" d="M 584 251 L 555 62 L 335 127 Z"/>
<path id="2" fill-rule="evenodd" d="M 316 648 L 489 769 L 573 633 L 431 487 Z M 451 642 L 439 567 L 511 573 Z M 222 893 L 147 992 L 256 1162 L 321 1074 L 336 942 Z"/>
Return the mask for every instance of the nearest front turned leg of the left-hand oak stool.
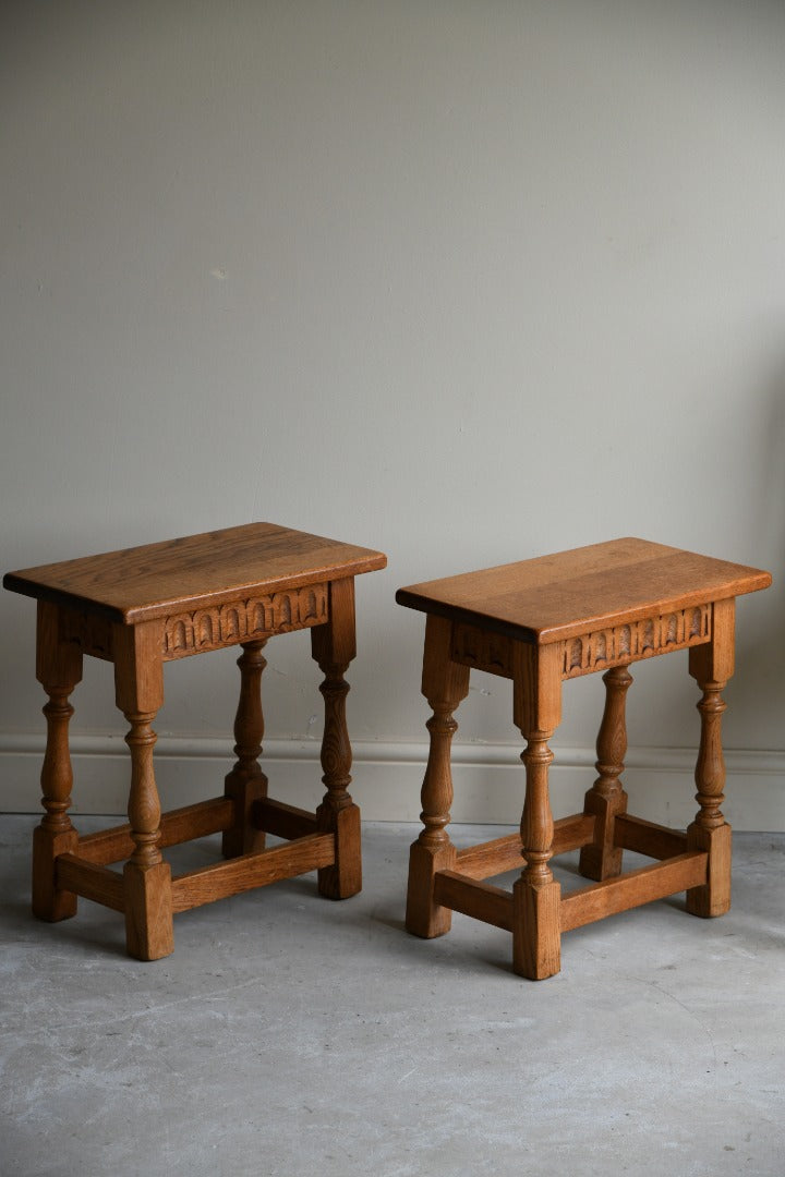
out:
<path id="1" fill-rule="evenodd" d="M 172 871 L 160 851 L 161 804 L 153 770 L 152 722 L 164 703 L 161 634 L 157 623 L 114 627 L 118 706 L 131 729 L 128 822 L 134 851 L 122 871 L 126 946 L 138 960 L 158 960 L 174 951 Z"/>

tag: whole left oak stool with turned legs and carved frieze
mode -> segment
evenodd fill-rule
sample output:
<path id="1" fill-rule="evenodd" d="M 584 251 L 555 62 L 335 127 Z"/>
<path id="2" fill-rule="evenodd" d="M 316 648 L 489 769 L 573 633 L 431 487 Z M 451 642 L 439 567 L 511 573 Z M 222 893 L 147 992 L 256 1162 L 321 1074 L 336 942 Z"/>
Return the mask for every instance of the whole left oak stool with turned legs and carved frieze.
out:
<path id="1" fill-rule="evenodd" d="M 344 673 L 355 653 L 353 578 L 385 564 L 380 552 L 258 523 L 5 577 L 6 588 L 38 599 L 36 673 L 49 697 L 46 814 L 33 837 L 33 911 L 40 919 L 67 919 L 76 896 L 93 899 L 125 913 L 131 956 L 157 960 L 173 951 L 174 912 L 314 869 L 320 893 L 331 899 L 360 890 Z M 261 651 L 273 634 L 307 627 L 325 674 L 327 792 L 315 813 L 268 799 L 258 762 Z M 234 645 L 242 647 L 237 763 L 224 796 L 161 817 L 151 724 L 164 703 L 164 663 Z M 84 654 L 114 663 L 117 705 L 131 724 L 131 792 L 128 825 L 80 838 L 68 817 L 68 696 L 81 679 Z M 228 862 L 172 878 L 161 849 L 218 831 Z M 266 850 L 265 832 L 287 840 Z M 122 859 L 122 875 L 107 866 Z"/>

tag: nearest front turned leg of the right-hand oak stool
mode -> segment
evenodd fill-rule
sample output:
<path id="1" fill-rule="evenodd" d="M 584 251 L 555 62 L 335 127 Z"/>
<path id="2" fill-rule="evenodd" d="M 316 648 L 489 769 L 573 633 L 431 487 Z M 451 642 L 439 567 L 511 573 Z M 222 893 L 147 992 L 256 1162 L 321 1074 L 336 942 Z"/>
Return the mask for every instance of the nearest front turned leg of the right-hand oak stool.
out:
<path id="1" fill-rule="evenodd" d="M 513 969 L 530 980 L 552 977 L 561 967 L 559 909 L 561 886 L 553 878 L 553 814 L 548 740 L 561 718 L 559 650 L 517 647 L 513 663 L 515 724 L 526 739 L 526 799 L 520 823 L 526 866 L 513 886 Z"/>

